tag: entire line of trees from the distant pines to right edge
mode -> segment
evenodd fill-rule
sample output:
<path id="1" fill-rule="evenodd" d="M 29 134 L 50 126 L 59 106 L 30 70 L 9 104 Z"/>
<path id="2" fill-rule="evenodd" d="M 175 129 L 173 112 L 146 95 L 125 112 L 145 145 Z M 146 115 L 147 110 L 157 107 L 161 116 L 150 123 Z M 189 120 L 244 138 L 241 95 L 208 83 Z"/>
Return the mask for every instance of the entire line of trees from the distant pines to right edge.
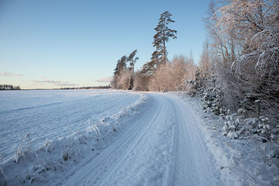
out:
<path id="1" fill-rule="evenodd" d="M 133 65 L 126 66 L 128 58 L 123 56 L 114 70 L 112 88 L 193 91 L 193 87 L 204 90 L 218 87 L 224 94 L 223 104 L 230 110 L 243 108 L 251 115 L 257 114 L 260 101 L 262 114 L 278 121 L 278 10 L 279 1 L 211 1 L 208 16 L 204 18 L 208 37 L 198 65 L 193 63 L 191 55 L 167 59 L 167 42 L 176 39 L 177 31 L 169 28 L 174 20 L 166 11 L 155 28 L 156 49 L 151 61 L 134 72 L 130 70 Z M 191 79 L 197 81 L 190 86 Z"/>

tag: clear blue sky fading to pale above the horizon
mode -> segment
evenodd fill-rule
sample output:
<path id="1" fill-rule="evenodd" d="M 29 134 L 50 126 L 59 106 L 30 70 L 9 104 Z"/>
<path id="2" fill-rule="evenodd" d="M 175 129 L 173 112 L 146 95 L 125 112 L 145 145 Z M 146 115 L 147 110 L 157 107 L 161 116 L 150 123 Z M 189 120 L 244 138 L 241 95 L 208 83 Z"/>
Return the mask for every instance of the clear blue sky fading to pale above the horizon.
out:
<path id="1" fill-rule="evenodd" d="M 60 88 L 109 84 L 116 61 L 137 49 L 135 66 L 150 60 L 153 30 L 172 13 L 168 58 L 202 52 L 204 1 L 0 0 L 0 84 Z"/>

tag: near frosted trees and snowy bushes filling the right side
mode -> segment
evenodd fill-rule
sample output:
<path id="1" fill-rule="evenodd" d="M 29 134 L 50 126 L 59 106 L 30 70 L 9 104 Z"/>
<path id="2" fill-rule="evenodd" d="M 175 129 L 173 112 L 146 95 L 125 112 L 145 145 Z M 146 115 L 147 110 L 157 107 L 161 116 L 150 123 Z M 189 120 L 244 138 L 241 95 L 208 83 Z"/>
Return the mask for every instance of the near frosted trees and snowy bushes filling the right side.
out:
<path id="1" fill-rule="evenodd" d="M 189 94 L 223 116 L 224 136 L 252 135 L 278 148 L 279 1 L 212 1 L 204 23 L 208 38 Z"/>

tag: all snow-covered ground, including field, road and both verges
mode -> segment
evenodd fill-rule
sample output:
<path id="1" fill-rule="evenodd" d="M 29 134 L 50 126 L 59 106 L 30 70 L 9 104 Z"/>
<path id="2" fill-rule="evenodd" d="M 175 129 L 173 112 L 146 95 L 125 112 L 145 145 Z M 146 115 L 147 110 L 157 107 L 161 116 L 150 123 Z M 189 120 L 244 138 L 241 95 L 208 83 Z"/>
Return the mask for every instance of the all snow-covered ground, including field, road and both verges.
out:
<path id="1" fill-rule="evenodd" d="M 0 100 L 7 105 L 0 109 L 0 148 L 6 150 L 0 185 L 276 185 L 279 180 L 278 160 L 271 158 L 276 152 L 263 156 L 269 144 L 223 137 L 223 121 L 205 114 L 197 98 L 71 90 L 5 92 Z M 47 123 L 36 127 L 38 121 Z"/>

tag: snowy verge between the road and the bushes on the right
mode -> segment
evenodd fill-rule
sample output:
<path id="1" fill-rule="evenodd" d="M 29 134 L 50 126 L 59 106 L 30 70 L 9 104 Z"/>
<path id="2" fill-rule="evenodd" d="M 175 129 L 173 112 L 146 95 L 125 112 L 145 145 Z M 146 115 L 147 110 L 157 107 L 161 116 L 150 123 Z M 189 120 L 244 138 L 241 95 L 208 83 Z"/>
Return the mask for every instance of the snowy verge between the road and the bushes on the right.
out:
<path id="1" fill-rule="evenodd" d="M 224 121 L 213 113 L 205 113 L 202 101 L 186 93 L 170 93 L 190 104 L 200 116 L 200 127 L 207 146 L 218 162 L 224 183 L 232 185 L 279 185 L 279 160 L 270 158 L 270 141 L 262 143 L 255 137 L 229 139 L 223 136 Z"/>

